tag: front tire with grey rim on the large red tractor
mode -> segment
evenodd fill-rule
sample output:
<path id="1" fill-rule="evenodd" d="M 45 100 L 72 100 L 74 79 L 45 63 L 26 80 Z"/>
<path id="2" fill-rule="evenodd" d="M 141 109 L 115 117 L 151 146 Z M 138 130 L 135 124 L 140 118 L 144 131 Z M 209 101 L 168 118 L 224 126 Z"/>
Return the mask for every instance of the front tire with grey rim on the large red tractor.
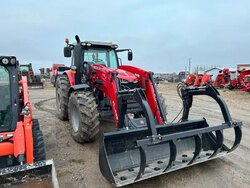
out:
<path id="1" fill-rule="evenodd" d="M 89 91 L 72 92 L 69 98 L 71 134 L 78 143 L 93 142 L 99 132 L 99 113 Z"/>

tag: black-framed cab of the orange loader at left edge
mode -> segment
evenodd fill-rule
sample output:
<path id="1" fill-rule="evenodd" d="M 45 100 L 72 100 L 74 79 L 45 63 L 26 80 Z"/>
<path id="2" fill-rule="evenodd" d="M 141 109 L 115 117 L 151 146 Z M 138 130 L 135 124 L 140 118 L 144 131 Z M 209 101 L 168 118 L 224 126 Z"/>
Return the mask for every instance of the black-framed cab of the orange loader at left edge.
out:
<path id="1" fill-rule="evenodd" d="M 18 119 L 16 58 L 0 56 L 0 132 L 12 131 Z"/>

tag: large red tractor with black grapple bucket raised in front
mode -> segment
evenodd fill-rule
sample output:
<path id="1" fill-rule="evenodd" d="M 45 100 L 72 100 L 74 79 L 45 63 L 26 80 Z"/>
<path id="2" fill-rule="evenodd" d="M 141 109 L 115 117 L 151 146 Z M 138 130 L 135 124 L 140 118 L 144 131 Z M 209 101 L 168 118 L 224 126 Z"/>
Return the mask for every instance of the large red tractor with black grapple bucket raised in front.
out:
<path id="1" fill-rule="evenodd" d="M 121 64 L 118 54 L 128 51 L 132 60 L 130 49 L 75 38 L 74 44 L 66 39 L 64 47 L 64 56 L 72 57 L 72 64 L 56 85 L 58 116 L 69 119 L 78 143 L 94 141 L 99 118 L 113 116 L 116 131 L 100 138 L 99 166 L 116 187 L 224 156 L 239 145 L 242 122 L 232 120 L 226 103 L 210 84 L 179 86 L 183 114 L 177 123 L 170 123 L 152 73 Z M 205 118 L 189 120 L 196 95 L 207 95 L 219 104 L 222 124 L 210 126 Z M 232 146 L 224 143 L 225 129 L 235 134 Z"/>

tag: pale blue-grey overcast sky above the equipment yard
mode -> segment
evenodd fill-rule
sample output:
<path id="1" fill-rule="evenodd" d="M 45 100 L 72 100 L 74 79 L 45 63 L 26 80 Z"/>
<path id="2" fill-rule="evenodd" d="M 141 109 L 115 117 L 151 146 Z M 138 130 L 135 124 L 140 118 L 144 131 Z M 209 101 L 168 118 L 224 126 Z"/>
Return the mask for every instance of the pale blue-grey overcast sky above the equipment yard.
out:
<path id="1" fill-rule="evenodd" d="M 64 39 L 102 40 L 131 48 L 131 65 L 154 72 L 250 63 L 250 1 L 5 0 L 0 55 L 51 67 L 70 64 Z M 123 60 L 125 64 L 126 59 Z"/>

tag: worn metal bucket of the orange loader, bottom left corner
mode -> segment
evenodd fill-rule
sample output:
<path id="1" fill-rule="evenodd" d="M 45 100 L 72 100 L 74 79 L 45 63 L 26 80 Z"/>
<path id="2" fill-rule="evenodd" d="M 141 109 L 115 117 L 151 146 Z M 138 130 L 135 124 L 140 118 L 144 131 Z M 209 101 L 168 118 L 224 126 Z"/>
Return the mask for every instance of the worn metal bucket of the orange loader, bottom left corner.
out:
<path id="1" fill-rule="evenodd" d="M 53 160 L 0 169 L 0 187 L 59 188 Z"/>

